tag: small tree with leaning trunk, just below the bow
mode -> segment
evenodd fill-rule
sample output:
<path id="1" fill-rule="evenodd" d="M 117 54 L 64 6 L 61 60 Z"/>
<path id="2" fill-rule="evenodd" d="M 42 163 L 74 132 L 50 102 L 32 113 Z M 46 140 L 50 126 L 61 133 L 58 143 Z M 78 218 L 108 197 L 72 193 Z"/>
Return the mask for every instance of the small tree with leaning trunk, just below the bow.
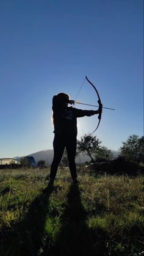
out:
<path id="1" fill-rule="evenodd" d="M 96 151 L 99 149 L 100 144 L 101 141 L 99 141 L 96 136 L 84 134 L 84 136 L 81 137 L 81 141 L 77 141 L 77 149 L 79 152 L 84 152 L 87 156 L 90 156 L 92 162 L 95 164 L 93 155 L 95 155 Z"/>

